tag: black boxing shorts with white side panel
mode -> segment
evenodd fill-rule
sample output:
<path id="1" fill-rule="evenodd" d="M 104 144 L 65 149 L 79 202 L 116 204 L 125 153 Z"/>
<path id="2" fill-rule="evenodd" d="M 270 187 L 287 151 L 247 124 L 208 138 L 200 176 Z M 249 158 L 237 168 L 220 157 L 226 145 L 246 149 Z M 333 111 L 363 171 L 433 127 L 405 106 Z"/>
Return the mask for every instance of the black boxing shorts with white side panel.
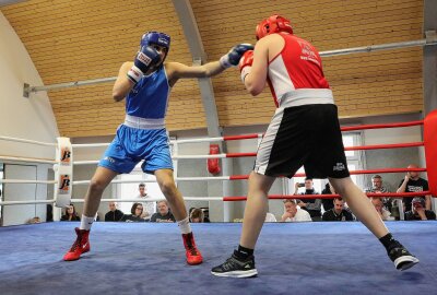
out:
<path id="1" fill-rule="evenodd" d="M 253 170 L 293 177 L 302 166 L 310 178 L 350 176 L 334 104 L 276 109 L 258 148 Z"/>

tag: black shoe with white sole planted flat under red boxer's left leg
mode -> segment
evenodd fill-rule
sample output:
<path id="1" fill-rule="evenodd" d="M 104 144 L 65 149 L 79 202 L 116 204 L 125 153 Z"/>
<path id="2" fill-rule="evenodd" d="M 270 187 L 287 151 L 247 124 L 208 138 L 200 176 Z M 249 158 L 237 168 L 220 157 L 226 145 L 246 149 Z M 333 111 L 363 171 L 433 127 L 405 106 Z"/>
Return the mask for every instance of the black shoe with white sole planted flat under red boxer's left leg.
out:
<path id="1" fill-rule="evenodd" d="M 258 275 L 253 256 L 240 260 L 235 255 L 232 255 L 224 263 L 212 268 L 211 273 L 216 276 L 227 278 L 250 278 Z"/>

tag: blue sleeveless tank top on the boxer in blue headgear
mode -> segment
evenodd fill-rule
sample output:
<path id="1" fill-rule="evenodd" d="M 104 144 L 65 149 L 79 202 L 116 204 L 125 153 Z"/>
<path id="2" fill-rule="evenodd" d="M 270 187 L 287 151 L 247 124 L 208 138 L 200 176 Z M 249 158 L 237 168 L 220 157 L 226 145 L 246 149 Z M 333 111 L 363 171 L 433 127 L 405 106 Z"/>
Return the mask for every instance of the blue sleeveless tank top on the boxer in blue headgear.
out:
<path id="1" fill-rule="evenodd" d="M 170 86 L 165 67 L 145 75 L 126 97 L 126 114 L 144 119 L 163 119 L 167 111 Z"/>

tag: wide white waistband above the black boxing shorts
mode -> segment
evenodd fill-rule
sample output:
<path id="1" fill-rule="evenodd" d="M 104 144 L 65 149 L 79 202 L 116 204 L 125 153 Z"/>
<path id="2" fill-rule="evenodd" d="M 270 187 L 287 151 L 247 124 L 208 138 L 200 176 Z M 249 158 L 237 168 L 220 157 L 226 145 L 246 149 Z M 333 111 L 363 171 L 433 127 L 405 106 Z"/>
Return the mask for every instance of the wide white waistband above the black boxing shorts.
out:
<path id="1" fill-rule="evenodd" d="M 279 107 L 293 107 L 315 104 L 334 104 L 329 88 L 300 88 L 285 93 L 279 99 Z"/>

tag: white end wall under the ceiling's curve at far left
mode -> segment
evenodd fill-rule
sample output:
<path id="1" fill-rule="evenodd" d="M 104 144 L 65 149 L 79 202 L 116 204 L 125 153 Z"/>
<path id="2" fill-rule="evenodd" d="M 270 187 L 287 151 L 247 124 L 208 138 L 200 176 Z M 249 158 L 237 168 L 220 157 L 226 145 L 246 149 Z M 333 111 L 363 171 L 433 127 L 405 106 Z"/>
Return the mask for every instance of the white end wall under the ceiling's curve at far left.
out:
<path id="1" fill-rule="evenodd" d="M 59 131 L 47 93 L 32 94 L 25 98 L 24 83 L 43 85 L 26 48 L 0 12 L 0 137 L 55 143 Z M 0 155 L 52 160 L 55 148 L 0 140 Z M 36 175 L 31 179 L 46 180 L 48 168 L 48 165 L 37 165 Z M 8 200 L 19 198 L 5 197 Z M 46 185 L 37 185 L 36 198 L 47 198 Z M 45 205 L 44 210 L 39 210 L 42 205 L 36 208 L 36 213 L 45 220 Z"/>

